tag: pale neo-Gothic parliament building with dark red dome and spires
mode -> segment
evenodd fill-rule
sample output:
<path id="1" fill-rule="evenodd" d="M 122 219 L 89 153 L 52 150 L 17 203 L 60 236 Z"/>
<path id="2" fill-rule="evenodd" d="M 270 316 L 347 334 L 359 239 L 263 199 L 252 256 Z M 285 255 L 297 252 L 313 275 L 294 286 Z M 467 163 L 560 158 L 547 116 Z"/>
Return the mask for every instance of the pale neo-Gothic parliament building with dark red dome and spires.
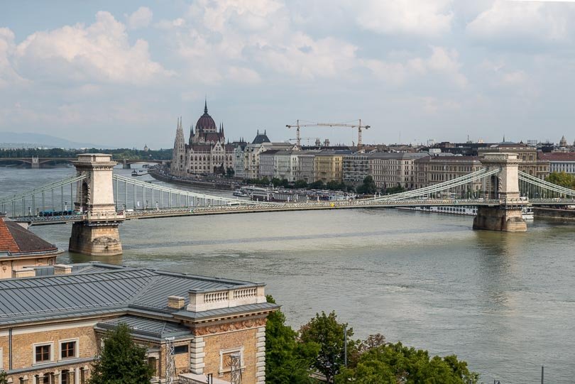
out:
<path id="1" fill-rule="evenodd" d="M 185 142 L 181 118 L 177 121 L 174 150 L 170 173 L 177 177 L 191 174 L 225 173 L 233 168 L 234 147 L 226 144 L 224 125 L 216 126 L 209 116 L 207 102 L 204 114 L 199 117 L 196 126 L 190 127 L 190 138 Z"/>

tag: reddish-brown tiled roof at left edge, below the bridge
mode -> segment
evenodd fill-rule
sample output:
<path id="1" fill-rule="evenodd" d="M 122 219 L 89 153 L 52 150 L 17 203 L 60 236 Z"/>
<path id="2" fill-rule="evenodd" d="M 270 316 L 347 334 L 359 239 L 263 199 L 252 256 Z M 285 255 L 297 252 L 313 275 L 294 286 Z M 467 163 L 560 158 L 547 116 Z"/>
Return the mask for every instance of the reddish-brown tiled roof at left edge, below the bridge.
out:
<path id="1" fill-rule="evenodd" d="M 48 243 L 16 222 L 0 216 L 0 253 L 8 253 L 9 256 L 22 256 L 58 252 L 58 248 L 54 244 Z"/>

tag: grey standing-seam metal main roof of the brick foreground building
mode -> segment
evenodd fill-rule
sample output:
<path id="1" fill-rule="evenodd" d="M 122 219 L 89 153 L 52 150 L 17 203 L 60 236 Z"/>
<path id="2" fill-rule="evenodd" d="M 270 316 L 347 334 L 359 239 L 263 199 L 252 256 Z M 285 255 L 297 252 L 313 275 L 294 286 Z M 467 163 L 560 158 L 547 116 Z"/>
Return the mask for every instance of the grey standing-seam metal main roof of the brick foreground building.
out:
<path id="1" fill-rule="evenodd" d="M 190 290 L 258 285 L 262 284 L 98 263 L 69 275 L 0 280 L 0 325 L 129 309 L 169 315 L 177 312 L 168 307 L 170 295 L 184 297 L 187 305 Z"/>

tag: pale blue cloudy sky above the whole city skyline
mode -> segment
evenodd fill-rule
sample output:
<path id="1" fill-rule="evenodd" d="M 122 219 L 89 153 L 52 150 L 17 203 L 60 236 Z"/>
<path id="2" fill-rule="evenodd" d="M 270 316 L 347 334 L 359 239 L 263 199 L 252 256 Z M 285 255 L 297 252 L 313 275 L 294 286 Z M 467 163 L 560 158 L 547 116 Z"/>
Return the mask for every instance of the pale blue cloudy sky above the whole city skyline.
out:
<path id="1" fill-rule="evenodd" d="M 0 138 L 170 148 L 207 99 L 231 141 L 573 142 L 574 48 L 573 1 L 3 1 Z"/>

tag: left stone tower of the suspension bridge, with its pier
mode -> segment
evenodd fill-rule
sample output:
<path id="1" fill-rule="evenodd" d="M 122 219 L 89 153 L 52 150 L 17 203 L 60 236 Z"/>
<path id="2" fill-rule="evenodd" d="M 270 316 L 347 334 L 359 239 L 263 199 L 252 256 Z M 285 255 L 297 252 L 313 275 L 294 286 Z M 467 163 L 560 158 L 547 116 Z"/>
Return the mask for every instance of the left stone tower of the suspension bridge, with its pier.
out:
<path id="1" fill-rule="evenodd" d="M 114 256 L 122 253 L 118 230 L 126 217 L 116 213 L 111 155 L 87 153 L 72 162 L 78 176 L 84 176 L 76 189 L 75 212 L 84 219 L 72 224 L 70 252 L 90 256 Z"/>

